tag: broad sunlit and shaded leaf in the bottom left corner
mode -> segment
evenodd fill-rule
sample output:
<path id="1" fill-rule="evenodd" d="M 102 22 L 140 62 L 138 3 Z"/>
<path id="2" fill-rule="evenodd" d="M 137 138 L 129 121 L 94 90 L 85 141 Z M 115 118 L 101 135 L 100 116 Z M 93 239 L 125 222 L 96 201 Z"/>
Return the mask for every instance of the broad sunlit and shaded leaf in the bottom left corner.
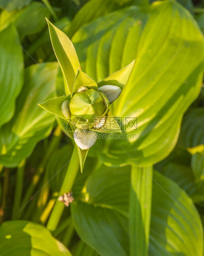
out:
<path id="1" fill-rule="evenodd" d="M 26 220 L 6 221 L 0 227 L 2 256 L 72 256 L 42 225 Z"/>

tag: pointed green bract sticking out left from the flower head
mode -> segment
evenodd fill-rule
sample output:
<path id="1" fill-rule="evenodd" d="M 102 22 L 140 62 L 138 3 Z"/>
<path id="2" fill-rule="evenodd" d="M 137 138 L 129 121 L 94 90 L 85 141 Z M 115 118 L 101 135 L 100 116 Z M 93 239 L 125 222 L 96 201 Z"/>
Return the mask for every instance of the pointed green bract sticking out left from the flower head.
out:
<path id="1" fill-rule="evenodd" d="M 65 100 L 70 100 L 70 99 L 71 99 L 70 96 L 61 96 L 61 97 L 57 97 L 57 98 L 47 100 L 46 102 L 43 102 L 43 103 L 38 104 L 38 105 L 40 107 L 42 107 L 43 109 L 45 109 L 46 111 L 67 120 L 63 116 L 63 113 L 61 111 L 61 107 L 62 107 L 62 104 Z"/>

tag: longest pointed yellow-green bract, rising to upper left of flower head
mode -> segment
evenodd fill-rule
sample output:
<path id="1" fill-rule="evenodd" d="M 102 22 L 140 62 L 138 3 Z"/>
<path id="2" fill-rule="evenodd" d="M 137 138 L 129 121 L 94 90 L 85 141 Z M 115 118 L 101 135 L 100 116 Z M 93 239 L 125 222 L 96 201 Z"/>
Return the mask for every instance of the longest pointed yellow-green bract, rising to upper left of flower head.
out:
<path id="1" fill-rule="evenodd" d="M 65 33 L 56 28 L 49 20 L 47 22 L 53 50 L 63 73 L 65 91 L 70 94 L 77 69 L 80 68 L 79 60 L 72 42 Z"/>

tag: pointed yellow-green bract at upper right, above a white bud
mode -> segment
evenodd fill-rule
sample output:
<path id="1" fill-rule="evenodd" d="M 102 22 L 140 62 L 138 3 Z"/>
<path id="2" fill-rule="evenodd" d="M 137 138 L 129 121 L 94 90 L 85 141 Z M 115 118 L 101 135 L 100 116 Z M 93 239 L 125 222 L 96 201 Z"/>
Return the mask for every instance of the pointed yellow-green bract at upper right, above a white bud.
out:
<path id="1" fill-rule="evenodd" d="M 121 90 L 123 90 L 125 84 L 127 83 L 128 78 L 130 76 L 133 66 L 134 66 L 134 61 L 131 62 L 125 68 L 113 73 L 112 75 L 108 76 L 104 80 L 97 83 L 98 87 L 101 87 L 103 85 L 116 85 L 116 86 L 120 87 Z"/>

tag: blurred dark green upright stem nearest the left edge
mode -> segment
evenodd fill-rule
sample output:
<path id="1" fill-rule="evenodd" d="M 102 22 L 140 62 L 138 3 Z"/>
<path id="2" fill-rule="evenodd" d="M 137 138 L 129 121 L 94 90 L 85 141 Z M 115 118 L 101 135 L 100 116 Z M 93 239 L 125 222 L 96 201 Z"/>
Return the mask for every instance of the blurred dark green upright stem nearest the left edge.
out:
<path id="1" fill-rule="evenodd" d="M 14 203 L 12 209 L 12 219 L 18 219 L 18 211 L 22 197 L 22 190 L 23 190 L 23 178 L 24 178 L 24 171 L 25 171 L 26 160 L 23 159 L 21 164 L 19 164 L 17 168 L 16 174 L 16 187 L 15 187 L 15 194 L 14 194 Z"/>

